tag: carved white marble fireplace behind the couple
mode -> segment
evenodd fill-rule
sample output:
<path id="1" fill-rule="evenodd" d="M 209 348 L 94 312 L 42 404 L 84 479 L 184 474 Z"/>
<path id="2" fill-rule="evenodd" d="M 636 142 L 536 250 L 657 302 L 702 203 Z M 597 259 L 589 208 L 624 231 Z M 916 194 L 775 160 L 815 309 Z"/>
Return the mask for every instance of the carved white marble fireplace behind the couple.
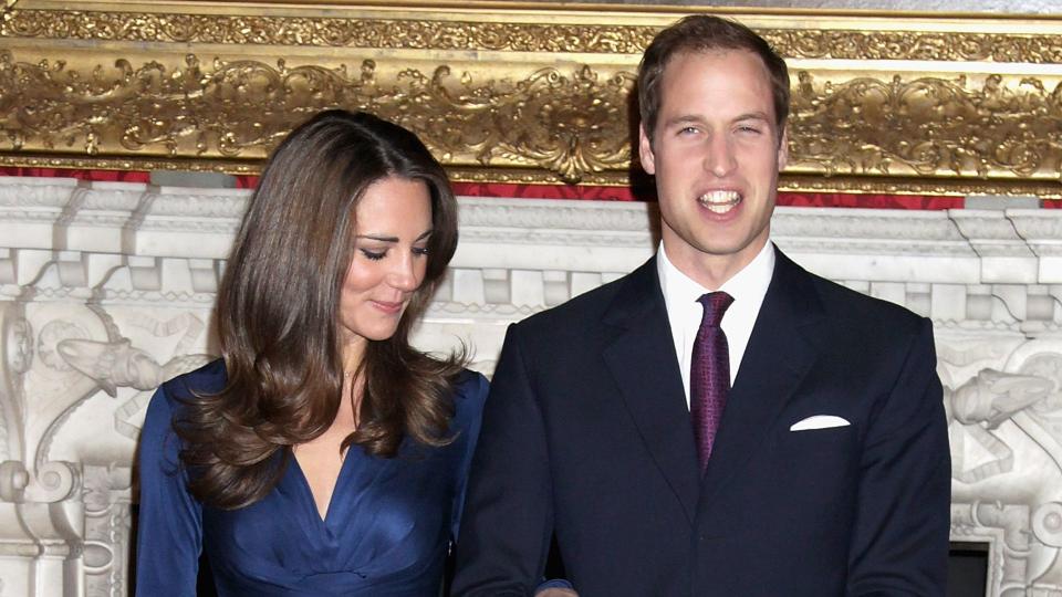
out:
<path id="1" fill-rule="evenodd" d="M 127 591 L 131 463 L 152 390 L 215 353 L 211 306 L 248 191 L 0 178 L 0 597 Z M 653 249 L 653 206 L 461 200 L 417 342 L 493 369 L 506 325 Z M 951 535 L 988 595 L 1062 596 L 1062 209 L 780 208 L 809 270 L 933 318 Z"/>

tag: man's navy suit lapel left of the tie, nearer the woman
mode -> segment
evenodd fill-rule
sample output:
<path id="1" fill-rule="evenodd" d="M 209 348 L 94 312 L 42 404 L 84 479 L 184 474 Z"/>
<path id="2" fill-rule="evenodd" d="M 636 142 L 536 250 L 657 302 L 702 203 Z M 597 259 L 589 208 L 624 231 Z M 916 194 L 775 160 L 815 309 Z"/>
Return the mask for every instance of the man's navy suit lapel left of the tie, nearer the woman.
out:
<path id="1" fill-rule="evenodd" d="M 693 522 L 697 455 L 656 259 L 635 270 L 605 315 L 616 336 L 604 358 L 657 467 Z"/>

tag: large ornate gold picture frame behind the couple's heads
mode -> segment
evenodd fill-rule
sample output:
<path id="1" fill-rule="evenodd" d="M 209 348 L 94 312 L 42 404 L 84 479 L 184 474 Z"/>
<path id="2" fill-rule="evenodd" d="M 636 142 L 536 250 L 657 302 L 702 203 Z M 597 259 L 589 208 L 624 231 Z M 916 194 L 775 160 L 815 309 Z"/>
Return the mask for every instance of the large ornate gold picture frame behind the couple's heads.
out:
<path id="1" fill-rule="evenodd" d="M 628 184 L 642 49 L 700 10 L 0 2 L 0 165 L 253 174 L 343 106 L 459 180 L 587 185 Z M 710 10 L 790 63 L 783 188 L 1062 197 L 1062 18 Z"/>

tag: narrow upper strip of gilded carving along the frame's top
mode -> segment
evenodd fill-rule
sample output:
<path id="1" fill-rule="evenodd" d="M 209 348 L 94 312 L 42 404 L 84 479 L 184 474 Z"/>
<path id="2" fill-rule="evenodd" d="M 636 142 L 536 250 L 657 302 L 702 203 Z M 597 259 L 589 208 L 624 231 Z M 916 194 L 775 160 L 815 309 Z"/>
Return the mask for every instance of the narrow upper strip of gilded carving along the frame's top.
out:
<path id="1" fill-rule="evenodd" d="M 662 24 L 666 21 L 663 19 Z M 662 24 L 319 15 L 131 15 L 83 10 L 12 10 L 0 27 L 0 35 L 126 42 L 639 54 Z M 754 29 L 787 57 L 1062 63 L 1062 41 L 1054 34 Z"/>

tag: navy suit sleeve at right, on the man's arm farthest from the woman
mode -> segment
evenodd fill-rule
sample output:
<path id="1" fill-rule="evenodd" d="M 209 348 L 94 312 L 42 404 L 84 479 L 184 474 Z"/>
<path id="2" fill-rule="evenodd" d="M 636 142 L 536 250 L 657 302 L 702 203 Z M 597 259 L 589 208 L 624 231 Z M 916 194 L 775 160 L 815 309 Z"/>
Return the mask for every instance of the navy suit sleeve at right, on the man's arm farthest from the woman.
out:
<path id="1" fill-rule="evenodd" d="M 848 595 L 945 594 L 951 465 L 936 364 L 923 320 L 867 429 Z"/>

